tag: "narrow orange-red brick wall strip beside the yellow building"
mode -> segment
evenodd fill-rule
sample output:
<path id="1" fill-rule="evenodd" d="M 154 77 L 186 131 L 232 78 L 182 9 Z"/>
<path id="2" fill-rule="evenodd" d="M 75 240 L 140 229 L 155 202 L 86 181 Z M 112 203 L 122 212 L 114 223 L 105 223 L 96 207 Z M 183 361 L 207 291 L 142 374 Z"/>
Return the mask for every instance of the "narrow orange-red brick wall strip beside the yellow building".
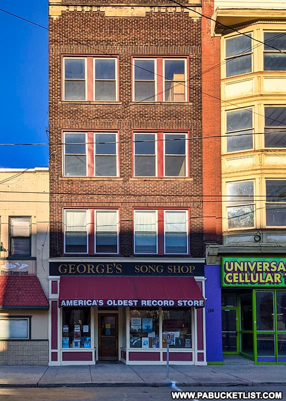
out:
<path id="1" fill-rule="evenodd" d="M 202 4 L 202 14 L 211 17 L 213 0 Z M 210 20 L 202 18 L 204 241 L 221 243 L 220 37 L 211 38 L 210 24 Z M 206 72 L 212 67 L 215 68 Z"/>

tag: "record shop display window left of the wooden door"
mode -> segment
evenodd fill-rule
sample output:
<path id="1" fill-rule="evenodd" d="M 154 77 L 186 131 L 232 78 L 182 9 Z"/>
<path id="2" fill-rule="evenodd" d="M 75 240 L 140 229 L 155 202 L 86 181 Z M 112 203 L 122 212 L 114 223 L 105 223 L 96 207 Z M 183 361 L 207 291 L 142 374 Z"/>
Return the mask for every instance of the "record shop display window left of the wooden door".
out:
<path id="1" fill-rule="evenodd" d="M 62 348 L 90 348 L 90 329 L 90 308 L 63 308 Z"/>

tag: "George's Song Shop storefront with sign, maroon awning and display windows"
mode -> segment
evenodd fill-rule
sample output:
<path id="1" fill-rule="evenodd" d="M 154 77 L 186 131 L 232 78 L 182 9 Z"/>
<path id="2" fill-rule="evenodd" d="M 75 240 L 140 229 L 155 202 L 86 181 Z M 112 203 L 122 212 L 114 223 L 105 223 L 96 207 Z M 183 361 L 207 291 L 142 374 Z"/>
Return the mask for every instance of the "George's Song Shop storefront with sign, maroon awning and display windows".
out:
<path id="1" fill-rule="evenodd" d="M 204 263 L 50 262 L 50 364 L 206 364 Z"/>

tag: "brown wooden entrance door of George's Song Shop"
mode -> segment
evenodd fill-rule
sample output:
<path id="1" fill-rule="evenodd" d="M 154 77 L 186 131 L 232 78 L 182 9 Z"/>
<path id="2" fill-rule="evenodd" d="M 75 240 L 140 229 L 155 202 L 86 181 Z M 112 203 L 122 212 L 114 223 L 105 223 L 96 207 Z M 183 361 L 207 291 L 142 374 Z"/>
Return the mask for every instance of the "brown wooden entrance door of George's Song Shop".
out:
<path id="1" fill-rule="evenodd" d="M 118 315 L 98 315 L 98 358 L 118 360 Z"/>

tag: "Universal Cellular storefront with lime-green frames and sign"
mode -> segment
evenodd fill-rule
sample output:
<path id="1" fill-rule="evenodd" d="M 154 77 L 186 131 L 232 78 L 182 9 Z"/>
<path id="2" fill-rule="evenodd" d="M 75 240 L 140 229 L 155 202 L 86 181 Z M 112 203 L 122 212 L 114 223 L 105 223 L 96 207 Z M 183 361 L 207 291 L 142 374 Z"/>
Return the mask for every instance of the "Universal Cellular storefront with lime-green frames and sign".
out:
<path id="1" fill-rule="evenodd" d="M 222 258 L 222 347 L 286 363 L 286 258 Z"/>

